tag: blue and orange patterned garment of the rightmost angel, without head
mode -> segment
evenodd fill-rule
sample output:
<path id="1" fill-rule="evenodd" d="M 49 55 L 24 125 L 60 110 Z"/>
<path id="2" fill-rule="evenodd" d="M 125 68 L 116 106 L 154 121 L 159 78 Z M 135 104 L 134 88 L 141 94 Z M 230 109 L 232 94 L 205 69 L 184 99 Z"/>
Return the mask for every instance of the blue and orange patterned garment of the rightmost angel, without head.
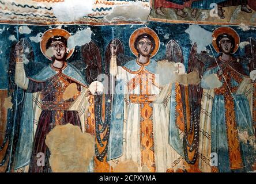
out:
<path id="1" fill-rule="evenodd" d="M 203 142 L 207 144 L 207 141 L 210 141 L 210 153 L 217 154 L 217 167 L 220 172 L 251 171 L 255 160 L 255 136 L 249 91 L 253 86 L 250 83 L 250 78 L 240 72 L 243 67 L 235 57 L 229 62 L 224 62 L 221 57 L 217 61 L 220 68 L 223 69 L 223 75 L 219 77 L 223 85 L 213 89 L 213 94 L 206 97 L 206 106 L 204 106 L 204 99 L 202 101 L 201 117 L 205 118 L 200 121 L 200 123 L 202 122 L 200 131 L 207 139 L 203 138 L 200 141 L 201 144 Z M 217 74 L 219 67 L 216 65 L 213 64 L 206 70 L 204 78 L 210 74 Z M 201 83 L 201 86 L 204 89 L 209 89 L 204 82 Z M 205 93 L 210 94 L 209 91 L 204 91 Z M 207 129 L 204 124 L 204 119 L 208 117 L 210 117 L 210 129 Z M 250 140 L 245 141 L 244 135 L 247 135 Z M 204 148 L 201 147 L 199 151 L 202 151 L 199 153 L 202 160 L 199 160 L 199 163 L 209 164 Z"/>

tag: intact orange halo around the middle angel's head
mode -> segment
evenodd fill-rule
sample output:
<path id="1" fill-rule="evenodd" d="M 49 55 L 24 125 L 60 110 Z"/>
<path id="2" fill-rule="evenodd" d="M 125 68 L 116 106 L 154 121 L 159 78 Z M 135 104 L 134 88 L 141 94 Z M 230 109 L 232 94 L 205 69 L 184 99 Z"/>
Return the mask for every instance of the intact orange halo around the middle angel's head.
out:
<path id="1" fill-rule="evenodd" d="M 153 52 L 150 54 L 150 57 L 153 57 L 159 51 L 160 40 L 159 40 L 159 37 L 157 36 L 156 32 L 153 31 L 150 28 L 138 28 L 138 29 L 134 30 L 133 33 L 131 33 L 130 40 L 129 40 L 129 45 L 130 45 L 131 52 L 133 52 L 133 54 L 135 56 L 138 56 L 138 52 L 134 47 L 134 42 L 135 42 L 135 40 L 137 39 L 138 36 L 140 36 L 141 34 L 144 34 L 144 33 L 149 34 L 155 40 L 156 47 L 153 50 Z"/>

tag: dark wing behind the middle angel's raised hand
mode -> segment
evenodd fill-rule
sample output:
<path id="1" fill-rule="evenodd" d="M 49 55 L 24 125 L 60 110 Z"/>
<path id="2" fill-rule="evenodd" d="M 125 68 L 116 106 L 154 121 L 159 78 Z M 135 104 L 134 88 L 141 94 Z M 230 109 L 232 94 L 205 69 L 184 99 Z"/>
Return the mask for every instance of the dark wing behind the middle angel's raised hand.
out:
<path id="1" fill-rule="evenodd" d="M 117 47 L 117 51 L 116 51 L 116 63 L 118 64 L 118 66 L 123 66 L 124 62 L 123 59 L 121 59 L 122 55 L 124 55 L 125 53 L 125 49 L 123 47 L 122 41 L 119 39 L 113 39 L 110 41 L 110 43 L 108 43 L 106 51 L 105 51 L 105 55 L 104 55 L 104 72 L 105 74 L 110 75 L 110 59 L 111 59 L 111 50 L 110 50 L 110 44 L 114 41 L 114 43 L 116 44 Z"/>

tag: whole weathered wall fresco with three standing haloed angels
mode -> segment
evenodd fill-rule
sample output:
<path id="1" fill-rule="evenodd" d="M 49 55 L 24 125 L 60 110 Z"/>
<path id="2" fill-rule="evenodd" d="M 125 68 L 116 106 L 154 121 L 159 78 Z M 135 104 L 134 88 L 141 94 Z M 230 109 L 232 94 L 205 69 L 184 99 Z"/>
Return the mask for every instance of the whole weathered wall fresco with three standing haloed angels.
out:
<path id="1" fill-rule="evenodd" d="M 92 1 L 65 20 L 10 18 L 11 6 L 57 16 L 53 6 L 69 1 L 24 2 L 0 1 L 1 172 L 256 170 L 254 22 L 184 22 L 206 1 L 156 1 L 168 7 L 151 13 L 149 1 Z M 214 2 L 225 16 L 228 3 L 251 7 Z M 137 3 L 146 11 L 122 12 Z M 130 7 L 89 17 L 98 5 Z M 186 17 L 151 20 L 164 8 Z"/>

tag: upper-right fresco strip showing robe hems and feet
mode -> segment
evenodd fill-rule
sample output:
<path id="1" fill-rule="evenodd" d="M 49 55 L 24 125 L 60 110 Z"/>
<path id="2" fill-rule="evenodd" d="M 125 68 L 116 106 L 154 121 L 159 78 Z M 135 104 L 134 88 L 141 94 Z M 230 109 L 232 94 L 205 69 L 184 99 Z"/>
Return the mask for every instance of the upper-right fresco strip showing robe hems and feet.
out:
<path id="1" fill-rule="evenodd" d="M 253 0 L 155 0 L 150 20 L 196 24 L 255 25 Z"/>

